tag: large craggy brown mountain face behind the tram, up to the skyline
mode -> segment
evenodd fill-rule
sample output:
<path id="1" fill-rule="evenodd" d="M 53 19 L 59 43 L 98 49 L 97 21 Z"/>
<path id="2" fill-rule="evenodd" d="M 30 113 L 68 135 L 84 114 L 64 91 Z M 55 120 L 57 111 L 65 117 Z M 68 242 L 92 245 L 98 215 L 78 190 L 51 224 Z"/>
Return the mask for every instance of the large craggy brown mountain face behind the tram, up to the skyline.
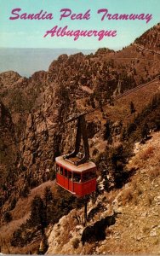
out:
<path id="1" fill-rule="evenodd" d="M 147 42 L 151 33 L 158 30 L 159 25 L 146 32 L 139 41 Z M 76 123 L 66 125 L 66 119 L 84 109 L 99 107 L 113 94 L 128 90 L 146 77 L 151 79 L 157 74 L 157 55 L 157 62 L 153 65 L 148 61 L 133 60 L 134 55 L 137 60 L 141 55 L 143 59 L 151 59 L 150 52 L 133 44 L 120 52 L 99 49 L 95 55 L 60 55 L 51 63 L 47 73 L 34 73 L 30 79 L 21 78 L 14 72 L 0 74 L 0 96 L 9 108 L 15 135 L 20 142 L 20 163 L 35 178 L 40 172 L 39 182 L 42 182 L 42 176 L 45 179 L 46 170 L 53 172 L 54 157 L 73 148 Z M 100 150 L 99 146 L 92 149 L 92 144 L 100 137 L 103 140 L 106 121 L 104 117 L 97 120 L 91 115 L 88 122 L 92 154 Z M 119 127 L 115 129 L 120 134 Z"/>

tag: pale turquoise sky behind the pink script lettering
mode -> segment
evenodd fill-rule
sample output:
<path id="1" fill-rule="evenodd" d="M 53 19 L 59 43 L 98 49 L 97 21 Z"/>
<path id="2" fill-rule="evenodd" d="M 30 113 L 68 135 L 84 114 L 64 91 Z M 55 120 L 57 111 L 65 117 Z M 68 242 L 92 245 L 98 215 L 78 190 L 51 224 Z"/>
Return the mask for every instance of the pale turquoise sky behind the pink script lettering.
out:
<path id="1" fill-rule="evenodd" d="M 53 20 L 9 20 L 12 9 L 20 8 L 23 13 L 37 14 L 41 10 L 54 15 Z M 60 20 L 60 9 L 71 9 L 72 14 L 85 13 L 90 9 L 89 20 Z M 103 20 L 98 9 L 108 9 L 114 14 L 151 14 L 146 20 Z M 122 49 L 135 38 L 160 21 L 160 0 L 0 0 L 0 47 L 9 48 L 77 48 Z M 117 30 L 117 37 L 73 38 L 46 37 L 43 35 L 54 26 L 68 26 L 70 30 Z"/>

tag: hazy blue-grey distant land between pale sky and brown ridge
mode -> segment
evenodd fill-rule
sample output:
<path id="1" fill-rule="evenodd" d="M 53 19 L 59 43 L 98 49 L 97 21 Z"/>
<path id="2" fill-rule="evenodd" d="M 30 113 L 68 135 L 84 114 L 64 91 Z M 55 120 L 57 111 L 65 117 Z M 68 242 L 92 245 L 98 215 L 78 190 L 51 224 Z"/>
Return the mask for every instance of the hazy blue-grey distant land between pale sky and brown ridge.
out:
<path id="1" fill-rule="evenodd" d="M 51 61 L 61 54 L 84 54 L 94 52 L 93 49 L 45 49 L 45 48 L 0 48 L 0 73 L 14 70 L 23 77 L 30 77 L 38 70 L 47 71 Z"/>

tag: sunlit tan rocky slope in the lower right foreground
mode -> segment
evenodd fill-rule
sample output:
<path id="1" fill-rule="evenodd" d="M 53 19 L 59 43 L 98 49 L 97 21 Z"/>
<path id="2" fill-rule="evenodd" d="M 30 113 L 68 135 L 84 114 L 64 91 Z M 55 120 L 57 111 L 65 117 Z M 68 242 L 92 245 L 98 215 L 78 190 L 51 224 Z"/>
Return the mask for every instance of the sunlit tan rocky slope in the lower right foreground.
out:
<path id="1" fill-rule="evenodd" d="M 135 154 L 129 160 L 127 168 L 128 171 L 133 168 L 136 171 L 129 183 L 123 189 L 104 192 L 94 203 L 89 201 L 87 228 L 83 227 L 83 209 L 72 210 L 60 218 L 59 223 L 49 230 L 47 253 L 160 252 L 160 133 L 153 133 L 151 136 L 146 144 L 135 144 Z M 108 221 L 105 226 L 103 220 L 109 220 L 114 212 L 117 212 L 114 221 Z M 75 216 L 80 217 L 79 223 Z M 89 227 L 93 229 L 89 230 Z"/>

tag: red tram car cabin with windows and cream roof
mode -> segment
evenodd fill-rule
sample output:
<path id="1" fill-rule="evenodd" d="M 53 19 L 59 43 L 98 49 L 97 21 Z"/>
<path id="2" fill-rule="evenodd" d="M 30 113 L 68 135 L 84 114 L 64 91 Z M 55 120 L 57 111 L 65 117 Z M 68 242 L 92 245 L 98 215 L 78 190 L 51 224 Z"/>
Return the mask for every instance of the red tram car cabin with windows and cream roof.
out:
<path id="1" fill-rule="evenodd" d="M 96 166 L 93 162 L 85 162 L 76 166 L 64 156 L 55 159 L 56 183 L 77 197 L 89 195 L 96 189 Z"/>

